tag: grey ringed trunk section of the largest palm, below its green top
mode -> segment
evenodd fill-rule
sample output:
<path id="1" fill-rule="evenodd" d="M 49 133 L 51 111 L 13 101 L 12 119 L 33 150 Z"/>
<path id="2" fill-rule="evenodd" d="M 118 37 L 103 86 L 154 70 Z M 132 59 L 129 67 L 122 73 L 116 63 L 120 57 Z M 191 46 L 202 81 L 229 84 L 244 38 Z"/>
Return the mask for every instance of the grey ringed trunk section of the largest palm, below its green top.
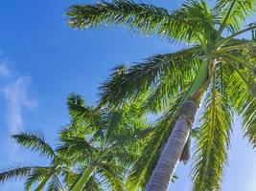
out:
<path id="1" fill-rule="evenodd" d="M 175 167 L 190 136 L 197 110 L 198 105 L 193 101 L 185 102 L 182 105 L 181 115 L 175 122 L 174 130 L 153 170 L 146 191 L 167 190 L 169 181 L 173 177 Z"/>

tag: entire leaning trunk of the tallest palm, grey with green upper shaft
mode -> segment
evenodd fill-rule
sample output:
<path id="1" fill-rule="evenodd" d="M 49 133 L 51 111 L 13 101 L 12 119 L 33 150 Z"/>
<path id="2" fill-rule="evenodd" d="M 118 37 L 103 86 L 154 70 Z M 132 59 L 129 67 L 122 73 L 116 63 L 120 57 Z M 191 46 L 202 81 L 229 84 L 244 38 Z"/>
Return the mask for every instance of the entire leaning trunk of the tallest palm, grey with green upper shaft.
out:
<path id="1" fill-rule="evenodd" d="M 179 160 L 188 159 L 189 148 L 185 148 L 185 146 L 189 143 L 190 131 L 198 110 L 198 102 L 208 87 L 214 65 L 215 60 L 206 60 L 202 63 L 191 89 L 185 96 L 180 116 L 175 121 L 174 130 L 151 174 L 146 191 L 166 191 Z"/>

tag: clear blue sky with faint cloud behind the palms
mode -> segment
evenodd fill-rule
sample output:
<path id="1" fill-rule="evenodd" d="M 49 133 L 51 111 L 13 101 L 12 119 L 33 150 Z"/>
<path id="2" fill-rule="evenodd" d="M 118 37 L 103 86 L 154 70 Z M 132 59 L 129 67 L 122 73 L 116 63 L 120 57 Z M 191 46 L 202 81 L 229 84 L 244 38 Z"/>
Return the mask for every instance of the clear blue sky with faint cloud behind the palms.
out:
<path id="1" fill-rule="evenodd" d="M 123 62 L 141 61 L 154 53 L 177 50 L 172 44 L 131 33 L 124 28 L 73 31 L 65 9 L 96 1 L 1 0 L 0 7 L 0 168 L 44 164 L 37 155 L 16 146 L 10 135 L 39 131 L 54 144 L 61 125 L 68 123 L 66 97 L 76 92 L 89 104 L 98 99 L 100 84 Z M 151 0 L 174 9 L 182 1 Z M 234 127 L 223 191 L 254 191 L 256 154 Z M 190 163 L 177 168 L 171 190 L 191 190 Z M 0 184 L 0 191 L 23 190 L 21 182 Z"/>

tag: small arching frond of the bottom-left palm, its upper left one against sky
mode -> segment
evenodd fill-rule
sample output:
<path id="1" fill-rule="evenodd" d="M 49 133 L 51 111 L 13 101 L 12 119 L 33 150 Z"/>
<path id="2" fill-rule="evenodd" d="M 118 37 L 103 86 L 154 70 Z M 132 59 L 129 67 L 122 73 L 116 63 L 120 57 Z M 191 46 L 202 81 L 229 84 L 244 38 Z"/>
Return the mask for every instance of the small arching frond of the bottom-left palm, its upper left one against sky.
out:
<path id="1" fill-rule="evenodd" d="M 54 149 L 45 142 L 42 135 L 21 132 L 17 135 L 13 135 L 12 138 L 14 138 L 18 144 L 39 152 L 40 156 L 46 156 L 51 159 L 56 157 Z"/>

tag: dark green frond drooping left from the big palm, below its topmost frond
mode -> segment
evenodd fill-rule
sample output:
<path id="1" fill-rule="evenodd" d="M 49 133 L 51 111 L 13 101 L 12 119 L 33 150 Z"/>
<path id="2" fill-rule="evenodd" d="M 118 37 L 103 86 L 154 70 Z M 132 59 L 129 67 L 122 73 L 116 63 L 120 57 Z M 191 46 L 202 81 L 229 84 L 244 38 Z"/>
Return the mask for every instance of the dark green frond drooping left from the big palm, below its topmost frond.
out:
<path id="1" fill-rule="evenodd" d="M 146 62 L 129 68 L 124 65 L 115 68 L 114 73 L 101 87 L 101 105 L 106 103 L 117 105 L 126 98 L 141 97 L 142 93 L 155 92 L 157 88 L 160 88 L 161 91 L 155 93 L 154 96 L 164 96 L 163 89 L 165 88 L 168 93 L 173 93 L 171 96 L 176 96 L 178 87 L 183 87 L 183 78 L 180 76 L 186 76 L 189 80 L 197 71 L 197 55 L 200 51 L 200 47 L 194 47 L 178 53 L 155 55 L 148 58 Z M 172 82 L 172 79 L 176 81 Z M 166 80 L 168 80 L 167 83 Z M 173 86 L 169 87 L 168 85 Z M 148 105 L 150 105 L 150 100 L 147 101 Z"/>

